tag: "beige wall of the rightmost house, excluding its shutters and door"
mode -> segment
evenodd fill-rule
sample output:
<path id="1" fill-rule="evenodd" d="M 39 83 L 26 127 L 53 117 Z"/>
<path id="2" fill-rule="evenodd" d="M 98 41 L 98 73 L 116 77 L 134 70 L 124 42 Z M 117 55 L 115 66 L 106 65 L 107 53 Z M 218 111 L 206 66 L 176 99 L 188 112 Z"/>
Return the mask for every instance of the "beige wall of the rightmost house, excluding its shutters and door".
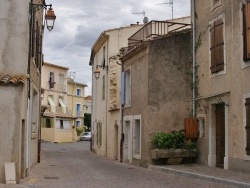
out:
<path id="1" fill-rule="evenodd" d="M 197 63 L 199 65 L 199 95 L 207 98 L 218 93 L 228 94 L 222 100 L 226 106 L 226 133 L 225 133 L 225 158 L 224 168 L 249 171 L 250 157 L 246 155 L 245 147 L 245 98 L 249 97 L 249 62 L 243 61 L 243 22 L 242 1 L 221 0 L 217 7 L 211 3 L 196 0 L 197 31 L 196 38 L 202 35 L 202 44 L 197 51 Z M 210 31 L 209 24 L 214 19 L 222 17 L 224 22 L 224 71 L 217 74 L 210 72 Z M 211 133 L 215 123 L 212 114 L 213 106 L 218 103 L 211 100 L 206 103 L 208 109 L 198 109 L 197 116 L 204 116 L 206 120 L 206 136 L 199 140 L 201 162 L 214 166 L 213 162 L 213 137 Z M 209 147 L 208 147 L 209 146 Z"/>

